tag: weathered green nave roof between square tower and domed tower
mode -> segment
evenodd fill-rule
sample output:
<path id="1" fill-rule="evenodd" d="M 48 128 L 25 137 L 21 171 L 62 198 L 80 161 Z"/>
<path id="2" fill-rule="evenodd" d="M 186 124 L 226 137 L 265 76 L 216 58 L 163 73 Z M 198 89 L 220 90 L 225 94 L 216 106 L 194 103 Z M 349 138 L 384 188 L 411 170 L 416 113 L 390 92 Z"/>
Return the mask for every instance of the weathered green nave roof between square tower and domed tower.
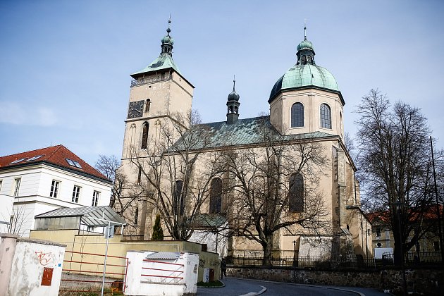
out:
<path id="1" fill-rule="evenodd" d="M 209 132 L 209 140 L 197 142 L 192 149 L 209 149 L 216 147 L 240 146 L 247 144 L 261 144 L 264 139 L 260 130 L 265 126 L 270 132 L 280 137 L 276 128 L 270 123 L 269 116 L 240 119 L 236 123 L 227 124 L 226 121 L 203 123 L 202 128 Z M 186 135 L 184 136 L 186 137 Z M 326 132 L 307 132 L 297 135 L 284 135 L 283 140 L 315 139 L 321 137 L 337 137 Z M 180 140 L 176 143 L 180 149 Z"/>

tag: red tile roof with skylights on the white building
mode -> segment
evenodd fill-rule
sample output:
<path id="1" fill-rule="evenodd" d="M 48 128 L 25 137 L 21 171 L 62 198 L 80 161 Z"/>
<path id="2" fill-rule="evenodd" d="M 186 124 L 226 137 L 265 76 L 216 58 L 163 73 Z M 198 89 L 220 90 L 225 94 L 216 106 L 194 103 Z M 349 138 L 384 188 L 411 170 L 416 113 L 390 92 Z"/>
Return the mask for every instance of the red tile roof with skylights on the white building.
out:
<path id="1" fill-rule="evenodd" d="M 38 159 L 32 159 L 34 156 L 39 156 Z M 13 161 L 17 161 L 19 159 L 23 159 L 22 161 L 18 161 L 15 164 L 11 164 Z M 71 166 L 68 164 L 66 159 L 71 159 L 73 161 L 77 161 L 78 164 L 82 168 L 78 168 L 76 166 Z M 37 164 L 37 163 L 49 163 L 55 164 L 56 166 L 61 166 L 62 168 L 68 168 L 73 171 L 78 171 L 81 173 L 87 173 L 88 175 L 92 175 L 97 178 L 101 178 L 104 180 L 108 180 L 104 175 L 102 175 L 95 168 L 87 164 L 85 161 L 80 159 L 79 156 L 75 155 L 73 152 L 63 145 L 51 146 L 42 149 L 22 152 L 18 154 L 12 154 L 7 156 L 0 157 L 0 170 L 4 168 L 13 168 L 16 166 L 23 166 L 28 164 Z"/>

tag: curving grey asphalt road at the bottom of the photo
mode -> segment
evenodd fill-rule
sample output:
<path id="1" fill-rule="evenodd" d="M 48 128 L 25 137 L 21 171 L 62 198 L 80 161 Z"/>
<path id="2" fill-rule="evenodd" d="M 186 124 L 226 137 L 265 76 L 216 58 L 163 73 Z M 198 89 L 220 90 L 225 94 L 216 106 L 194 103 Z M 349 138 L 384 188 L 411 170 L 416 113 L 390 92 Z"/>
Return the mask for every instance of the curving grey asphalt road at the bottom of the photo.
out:
<path id="1" fill-rule="evenodd" d="M 223 296 L 252 296 L 258 295 L 328 295 L 328 296 L 380 296 L 387 295 L 374 289 L 354 288 L 354 287 L 330 287 L 330 286 L 312 286 L 296 285 L 291 283 L 266 282 L 261 280 L 245 280 L 240 278 L 228 278 L 222 280 L 225 283 L 223 288 L 197 288 L 198 296 L 223 295 Z M 264 291 L 264 288 L 266 290 Z"/>

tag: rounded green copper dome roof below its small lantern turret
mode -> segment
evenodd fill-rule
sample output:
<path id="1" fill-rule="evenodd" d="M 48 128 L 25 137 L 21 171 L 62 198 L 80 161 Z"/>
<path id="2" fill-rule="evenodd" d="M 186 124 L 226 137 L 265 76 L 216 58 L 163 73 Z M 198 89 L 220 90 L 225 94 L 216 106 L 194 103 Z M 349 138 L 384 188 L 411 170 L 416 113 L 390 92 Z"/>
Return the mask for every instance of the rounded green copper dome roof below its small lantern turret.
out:
<path id="1" fill-rule="evenodd" d="M 281 90 L 309 86 L 321 87 L 339 92 L 338 83 L 326 68 L 307 63 L 305 65 L 295 65 L 288 69 L 288 71 L 279 78 L 273 86 L 270 100 Z"/>

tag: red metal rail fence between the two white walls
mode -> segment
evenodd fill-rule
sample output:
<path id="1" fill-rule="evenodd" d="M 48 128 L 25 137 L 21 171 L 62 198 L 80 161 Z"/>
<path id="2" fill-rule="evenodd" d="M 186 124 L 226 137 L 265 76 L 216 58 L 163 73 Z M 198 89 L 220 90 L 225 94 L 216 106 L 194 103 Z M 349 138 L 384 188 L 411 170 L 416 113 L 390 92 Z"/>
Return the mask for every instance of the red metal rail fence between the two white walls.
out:
<path id="1" fill-rule="evenodd" d="M 107 255 L 106 269 L 104 254 L 66 251 L 70 260 L 63 261 L 60 295 L 70 292 L 101 293 L 125 292 L 125 277 L 128 258 Z M 67 258 L 67 256 L 65 256 Z"/>

